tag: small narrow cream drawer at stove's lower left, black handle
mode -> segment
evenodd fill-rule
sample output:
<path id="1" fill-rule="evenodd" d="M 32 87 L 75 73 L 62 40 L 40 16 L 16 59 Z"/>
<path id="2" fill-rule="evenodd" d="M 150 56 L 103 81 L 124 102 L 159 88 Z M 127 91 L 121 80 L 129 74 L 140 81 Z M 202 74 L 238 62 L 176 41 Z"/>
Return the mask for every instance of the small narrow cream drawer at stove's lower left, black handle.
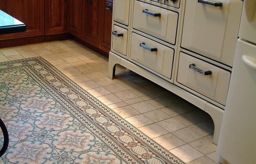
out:
<path id="1" fill-rule="evenodd" d="M 126 56 L 128 31 L 125 28 L 114 25 L 112 31 L 113 50 Z"/>

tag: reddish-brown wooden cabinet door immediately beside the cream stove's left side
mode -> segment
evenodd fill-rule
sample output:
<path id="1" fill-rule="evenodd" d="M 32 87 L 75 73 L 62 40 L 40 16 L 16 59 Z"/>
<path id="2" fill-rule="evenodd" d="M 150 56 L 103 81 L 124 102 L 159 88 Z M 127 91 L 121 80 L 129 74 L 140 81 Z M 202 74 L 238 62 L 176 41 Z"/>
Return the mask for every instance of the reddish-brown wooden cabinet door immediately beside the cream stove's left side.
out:
<path id="1" fill-rule="evenodd" d="M 105 52 L 110 51 L 113 0 L 101 1 L 99 48 Z"/>

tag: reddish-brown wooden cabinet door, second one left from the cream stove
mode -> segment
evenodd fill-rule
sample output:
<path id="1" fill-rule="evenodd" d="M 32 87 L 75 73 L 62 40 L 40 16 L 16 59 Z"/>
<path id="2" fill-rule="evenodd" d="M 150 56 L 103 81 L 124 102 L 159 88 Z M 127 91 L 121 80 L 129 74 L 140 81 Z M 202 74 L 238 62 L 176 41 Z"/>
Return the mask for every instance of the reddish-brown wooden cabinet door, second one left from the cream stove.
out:
<path id="1" fill-rule="evenodd" d="M 98 47 L 99 41 L 99 0 L 82 1 L 81 39 Z"/>

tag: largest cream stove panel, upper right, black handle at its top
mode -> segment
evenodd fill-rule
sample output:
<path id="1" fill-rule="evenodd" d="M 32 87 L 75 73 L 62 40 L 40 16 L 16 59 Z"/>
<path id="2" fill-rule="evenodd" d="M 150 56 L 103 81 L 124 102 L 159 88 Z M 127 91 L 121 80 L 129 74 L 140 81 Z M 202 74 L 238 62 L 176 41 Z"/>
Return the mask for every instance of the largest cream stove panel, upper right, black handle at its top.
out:
<path id="1" fill-rule="evenodd" d="M 242 12 L 241 0 L 187 0 L 181 46 L 232 66 Z M 202 0 L 204 2 L 204 0 Z"/>

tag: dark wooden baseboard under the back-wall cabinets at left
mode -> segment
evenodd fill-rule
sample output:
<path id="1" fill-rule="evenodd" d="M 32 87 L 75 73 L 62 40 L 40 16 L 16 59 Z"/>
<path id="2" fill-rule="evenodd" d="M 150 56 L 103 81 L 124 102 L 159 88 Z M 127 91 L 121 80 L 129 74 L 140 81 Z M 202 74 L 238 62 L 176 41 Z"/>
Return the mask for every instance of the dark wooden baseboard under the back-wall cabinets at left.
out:
<path id="1" fill-rule="evenodd" d="M 70 39 L 69 33 L 55 34 L 55 35 L 40 35 L 40 36 L 29 36 L 22 38 L 11 38 L 11 39 L 0 39 L 0 48 L 22 46 L 25 44 L 33 44 L 40 42 L 48 42 L 53 40 Z"/>

